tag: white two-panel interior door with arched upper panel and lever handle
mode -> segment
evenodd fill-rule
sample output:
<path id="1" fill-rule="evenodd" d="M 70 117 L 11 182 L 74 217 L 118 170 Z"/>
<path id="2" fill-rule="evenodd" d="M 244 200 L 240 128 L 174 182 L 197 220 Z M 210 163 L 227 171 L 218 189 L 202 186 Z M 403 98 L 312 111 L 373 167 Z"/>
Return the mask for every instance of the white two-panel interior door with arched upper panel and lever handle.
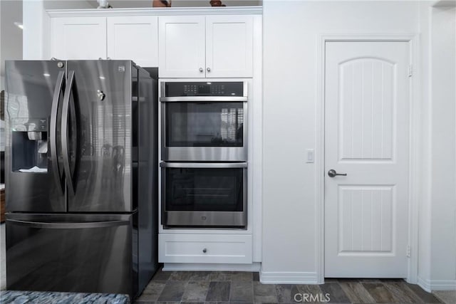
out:
<path id="1" fill-rule="evenodd" d="M 405 278 L 409 43 L 327 42 L 325 65 L 325 277 Z"/>

